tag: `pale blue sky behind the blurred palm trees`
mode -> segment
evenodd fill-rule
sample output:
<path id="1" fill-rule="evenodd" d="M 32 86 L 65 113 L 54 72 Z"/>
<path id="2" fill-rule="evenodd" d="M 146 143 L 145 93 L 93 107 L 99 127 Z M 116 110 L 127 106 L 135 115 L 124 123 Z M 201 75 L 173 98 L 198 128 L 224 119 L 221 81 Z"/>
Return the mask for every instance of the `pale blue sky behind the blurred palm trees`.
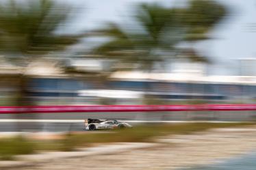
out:
<path id="1" fill-rule="evenodd" d="M 61 1 L 61 0 L 59 0 Z M 97 28 L 106 21 L 125 23 L 135 3 L 162 3 L 173 5 L 185 0 L 66 0 L 78 7 L 72 27 L 64 32 L 77 32 Z M 222 23 L 212 31 L 212 40 L 197 44 L 202 54 L 212 61 L 210 74 L 238 74 L 238 59 L 256 59 L 256 1 L 218 0 L 231 10 Z M 63 2 L 63 0 L 62 0 Z M 251 68 L 253 69 L 253 68 Z"/>

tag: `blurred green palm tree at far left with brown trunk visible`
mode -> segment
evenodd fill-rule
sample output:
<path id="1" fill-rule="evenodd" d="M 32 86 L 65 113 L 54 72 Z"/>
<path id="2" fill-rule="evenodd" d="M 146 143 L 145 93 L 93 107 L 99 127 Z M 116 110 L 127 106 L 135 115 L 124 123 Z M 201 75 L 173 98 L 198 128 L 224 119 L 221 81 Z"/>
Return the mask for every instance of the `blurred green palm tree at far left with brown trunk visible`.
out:
<path id="1" fill-rule="evenodd" d="M 51 0 L 8 1 L 0 5 L 0 51 L 12 63 L 23 68 L 19 79 L 17 104 L 25 100 L 25 70 L 32 61 L 48 53 L 76 44 L 79 36 L 60 35 L 56 31 L 68 19 L 71 9 Z"/>

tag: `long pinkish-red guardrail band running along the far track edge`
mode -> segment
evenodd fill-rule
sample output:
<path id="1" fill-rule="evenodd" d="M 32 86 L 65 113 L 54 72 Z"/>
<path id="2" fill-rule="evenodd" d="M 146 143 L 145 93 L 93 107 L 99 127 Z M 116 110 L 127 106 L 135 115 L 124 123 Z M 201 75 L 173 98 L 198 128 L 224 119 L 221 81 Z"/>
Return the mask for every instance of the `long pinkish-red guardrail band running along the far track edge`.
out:
<path id="1" fill-rule="evenodd" d="M 256 111 L 256 104 L 187 104 L 187 105 L 93 105 L 0 107 L 6 113 L 66 112 L 138 112 L 138 111 Z"/>

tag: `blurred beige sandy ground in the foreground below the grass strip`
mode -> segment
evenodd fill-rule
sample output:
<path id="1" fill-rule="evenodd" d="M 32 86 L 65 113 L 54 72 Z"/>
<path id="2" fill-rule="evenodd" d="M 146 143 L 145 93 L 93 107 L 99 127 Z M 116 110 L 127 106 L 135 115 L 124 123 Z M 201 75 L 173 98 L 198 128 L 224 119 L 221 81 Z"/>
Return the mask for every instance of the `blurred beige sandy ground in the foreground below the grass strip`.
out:
<path id="1" fill-rule="evenodd" d="M 19 170 L 179 169 L 205 165 L 256 149 L 256 126 L 223 128 L 155 139 L 159 145 L 116 154 L 65 158 Z"/>

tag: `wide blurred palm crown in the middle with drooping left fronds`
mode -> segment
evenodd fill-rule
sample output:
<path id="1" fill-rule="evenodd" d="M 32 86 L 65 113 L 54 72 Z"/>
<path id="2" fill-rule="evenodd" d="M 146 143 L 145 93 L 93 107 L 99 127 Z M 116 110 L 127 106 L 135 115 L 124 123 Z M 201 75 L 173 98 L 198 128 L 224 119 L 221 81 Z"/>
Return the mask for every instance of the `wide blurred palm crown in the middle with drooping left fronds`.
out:
<path id="1" fill-rule="evenodd" d="M 183 39 L 178 13 L 179 9 L 142 3 L 132 18 L 135 25 L 107 23 L 107 27 L 96 31 L 110 41 L 94 48 L 94 52 L 118 61 L 115 69 L 124 69 L 125 63 L 128 68 L 136 65 L 151 72 L 154 63 L 163 61 L 163 56 L 172 56 L 175 45 Z"/>

